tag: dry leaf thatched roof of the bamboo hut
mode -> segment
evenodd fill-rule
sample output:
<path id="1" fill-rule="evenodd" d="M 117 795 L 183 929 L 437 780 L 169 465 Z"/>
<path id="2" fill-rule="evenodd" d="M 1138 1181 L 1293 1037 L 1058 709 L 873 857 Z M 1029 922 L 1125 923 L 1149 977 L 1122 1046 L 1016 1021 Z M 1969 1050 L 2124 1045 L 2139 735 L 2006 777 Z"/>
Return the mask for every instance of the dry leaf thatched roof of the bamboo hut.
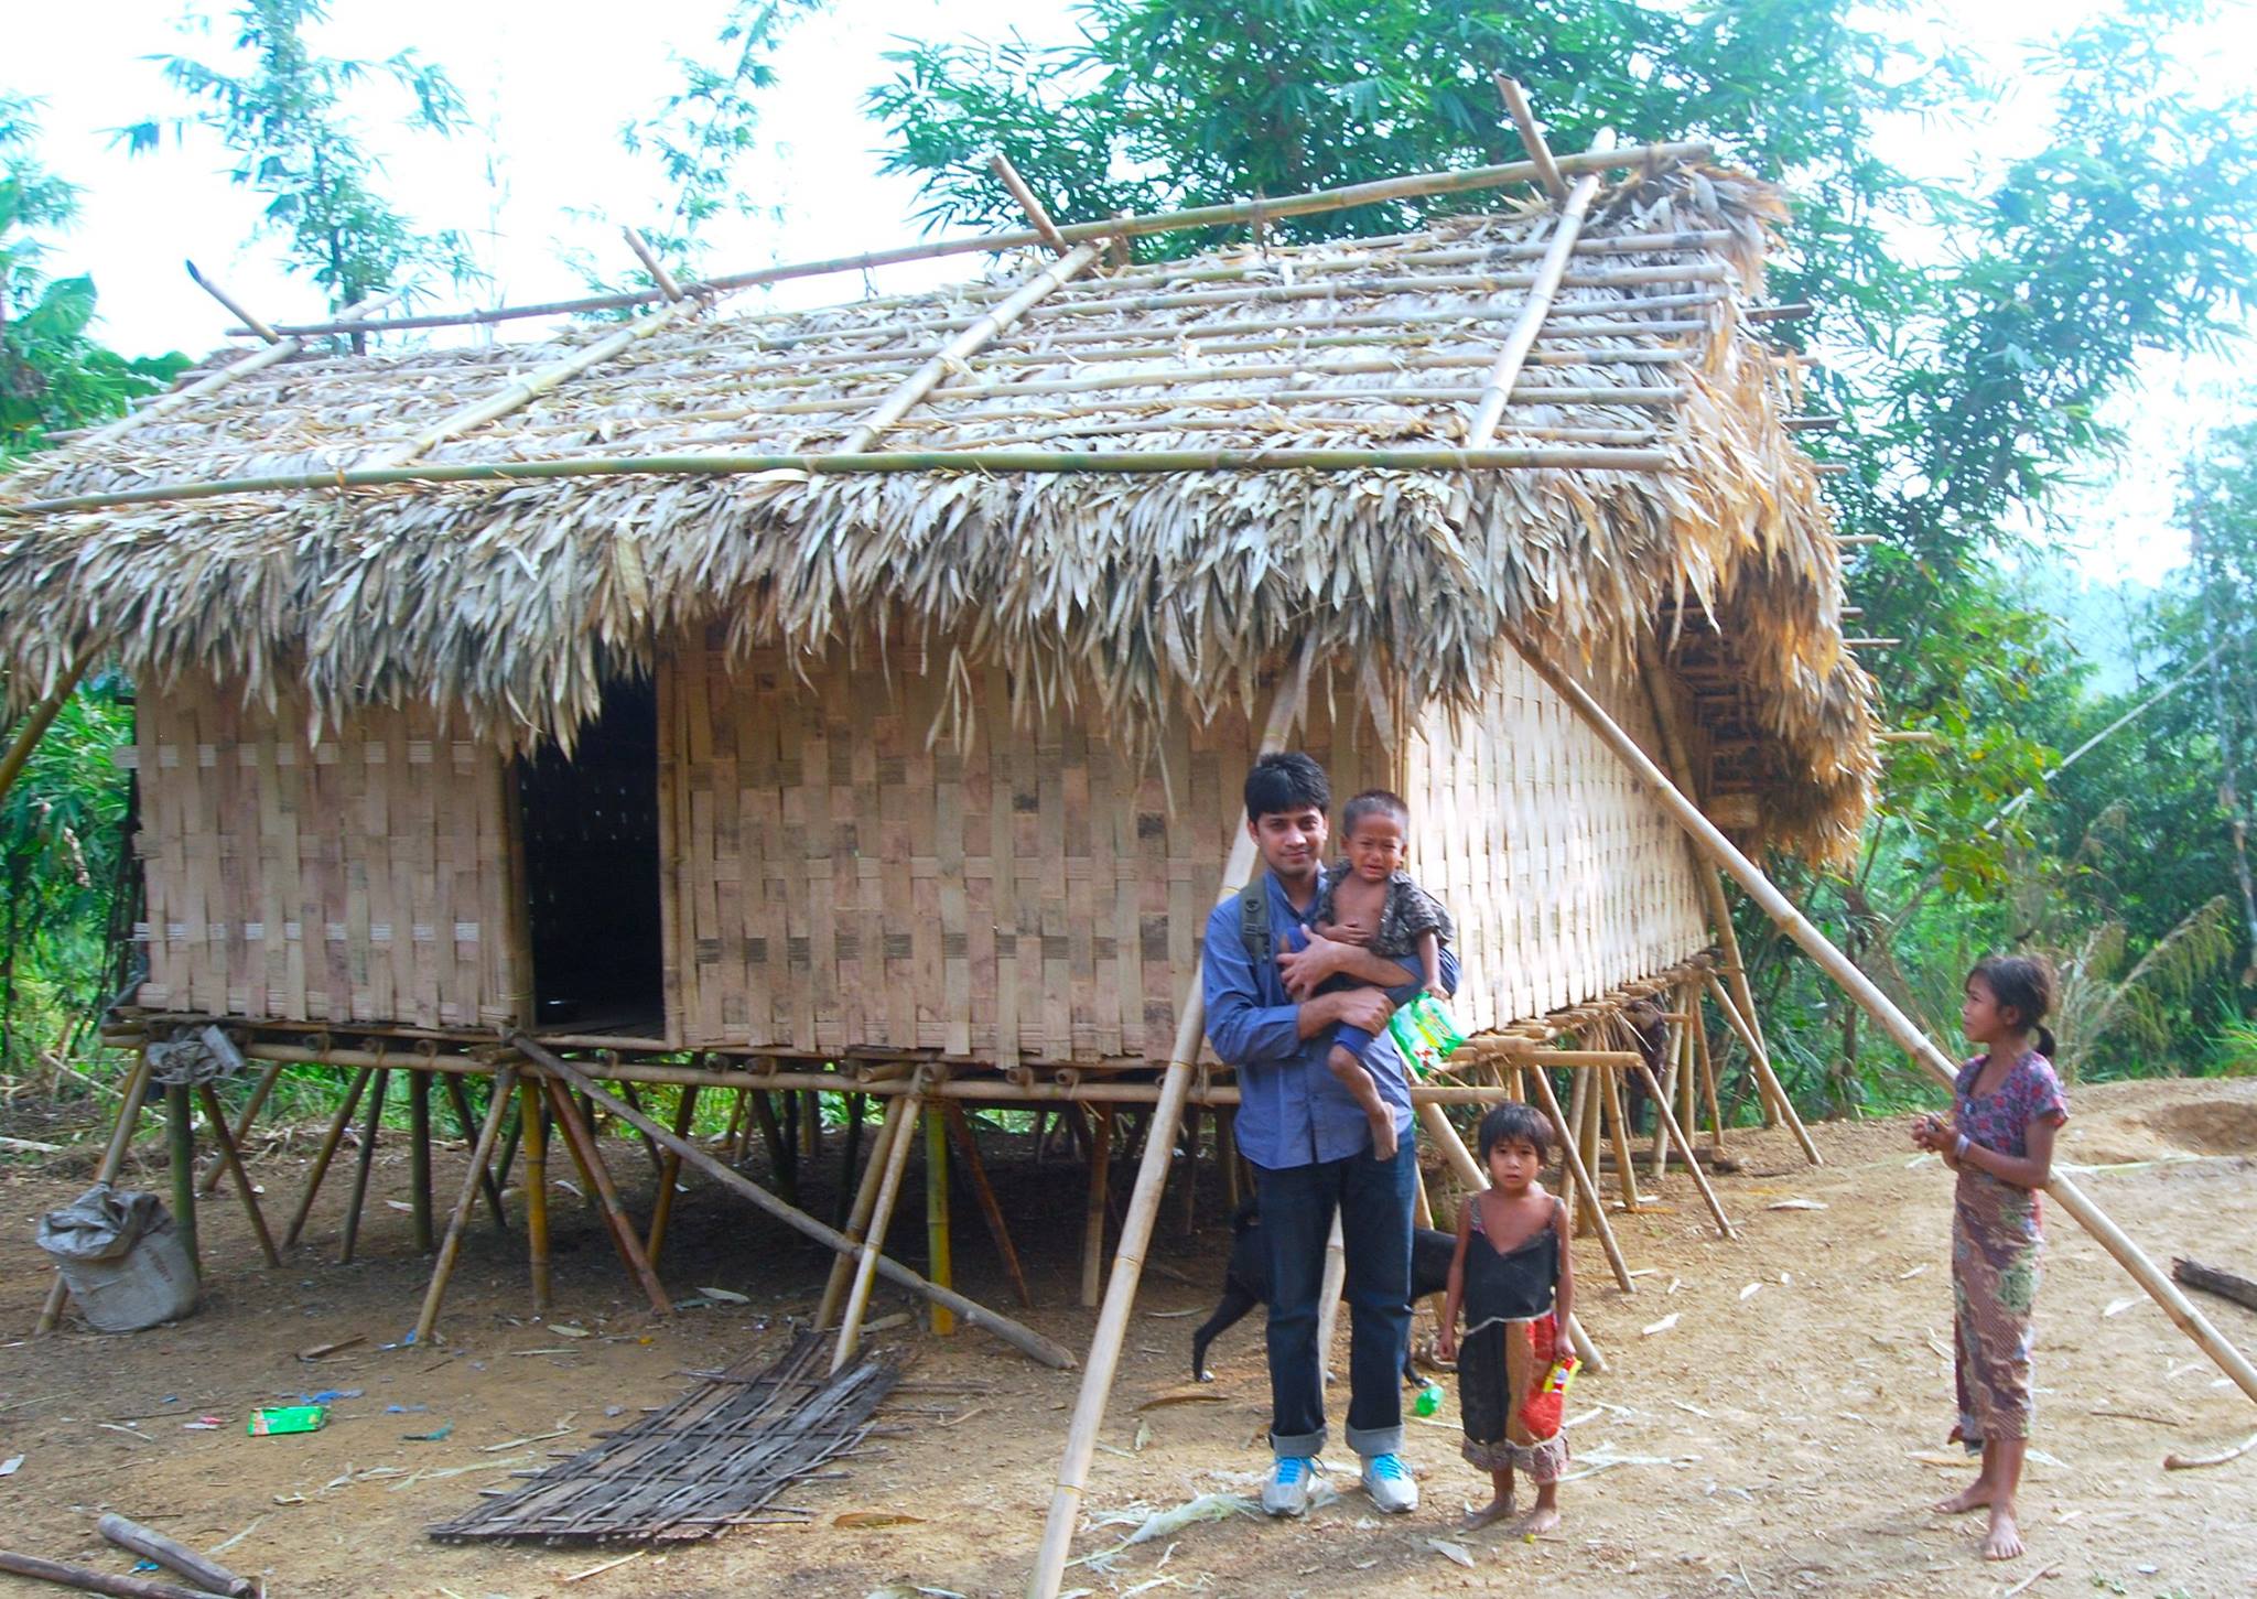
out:
<path id="1" fill-rule="evenodd" d="M 1596 465 L 1156 474 L 630 474 L 298 488 L 0 515 L 0 666 L 23 698 L 90 641 L 144 682 L 305 680 L 325 716 L 458 707 L 521 741 L 686 626 L 810 655 L 916 630 L 1029 700 L 1151 725 L 1253 700 L 1302 637 L 1424 696 L 1478 691 L 1508 635 L 1627 657 L 1706 619 L 1769 741 L 1776 838 L 1837 851 L 1873 775 L 1871 682 L 1792 445 L 1792 373 L 1747 309 L 1776 194 L 1672 167 L 1602 192 L 1499 445 Z M 1449 445 L 1526 298 L 1551 206 L 1390 239 L 1099 269 L 950 373 L 880 449 Z M 1668 235 L 1668 237 L 1657 237 Z M 418 463 L 824 454 L 1018 271 L 819 312 L 679 314 Z M 99 445 L 14 501 L 395 458 L 436 418 L 612 327 L 544 343 L 302 355 Z M 1557 393 L 1557 400 L 1546 400 Z M 1666 470 L 1609 449 L 1666 452 Z M 1623 456 L 1636 458 L 1636 456 Z"/>

